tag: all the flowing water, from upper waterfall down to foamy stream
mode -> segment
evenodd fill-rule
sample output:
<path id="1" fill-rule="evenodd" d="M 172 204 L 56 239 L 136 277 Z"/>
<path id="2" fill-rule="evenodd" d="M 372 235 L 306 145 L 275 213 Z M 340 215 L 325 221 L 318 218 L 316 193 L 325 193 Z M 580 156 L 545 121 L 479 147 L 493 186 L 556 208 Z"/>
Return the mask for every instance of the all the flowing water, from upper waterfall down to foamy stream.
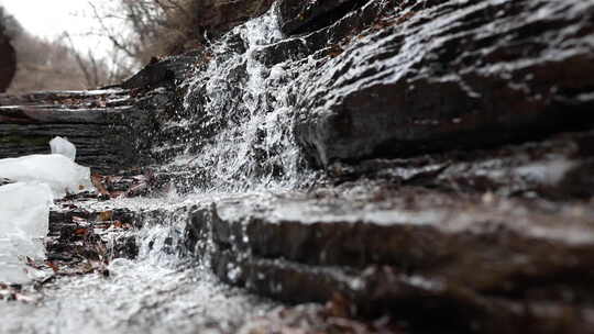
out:
<path id="1" fill-rule="evenodd" d="M 166 124 L 173 133 L 156 152 L 173 152 L 166 170 L 190 168 L 199 178 L 178 185 L 188 199 L 138 200 L 134 210 L 174 208 L 282 192 L 306 178 L 292 133 L 289 81 L 307 64 L 266 67 L 258 52 L 283 36 L 271 11 L 227 34 L 209 48 L 210 62 L 183 87 L 184 108 Z M 215 192 L 223 193 L 215 196 Z M 249 196 L 248 196 L 249 197 Z M 197 199 L 198 198 L 198 199 Z M 218 199 L 216 199 L 218 198 Z M 166 210 L 166 209 L 165 209 Z M 196 333 L 230 332 L 275 304 L 221 285 L 200 264 L 180 257 L 185 221 L 145 223 L 135 260 L 116 259 L 110 277 L 61 277 L 30 303 L 0 301 L 1 333 Z"/>

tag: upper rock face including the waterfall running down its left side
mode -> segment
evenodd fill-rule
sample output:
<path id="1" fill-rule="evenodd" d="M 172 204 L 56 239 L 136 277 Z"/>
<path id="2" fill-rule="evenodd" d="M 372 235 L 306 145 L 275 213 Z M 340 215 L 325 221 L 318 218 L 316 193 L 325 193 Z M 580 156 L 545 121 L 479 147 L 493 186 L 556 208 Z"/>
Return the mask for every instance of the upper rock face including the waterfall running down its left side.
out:
<path id="1" fill-rule="evenodd" d="M 485 147 L 593 121 L 590 3 L 331 3 L 279 1 L 277 23 L 258 23 L 267 35 L 246 24 L 220 38 L 188 80 L 184 115 L 164 126 L 172 134 L 161 141 L 170 143 L 163 157 L 208 155 L 205 142 L 227 141 L 268 158 L 299 151 L 294 165 L 328 166 Z M 253 126 L 222 140 L 230 118 Z M 278 137 L 297 147 L 274 144 Z M 286 159 L 243 158 L 260 166 L 252 177 L 294 174 Z"/>

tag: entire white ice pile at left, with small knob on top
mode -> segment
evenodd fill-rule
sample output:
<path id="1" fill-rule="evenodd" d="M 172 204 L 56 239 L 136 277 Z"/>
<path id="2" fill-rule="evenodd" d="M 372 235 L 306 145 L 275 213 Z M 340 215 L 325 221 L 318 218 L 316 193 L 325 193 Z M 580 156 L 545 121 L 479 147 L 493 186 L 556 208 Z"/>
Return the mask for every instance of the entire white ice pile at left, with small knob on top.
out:
<path id="1" fill-rule="evenodd" d="M 30 281 L 33 268 L 23 259 L 45 256 L 54 199 L 92 188 L 90 169 L 74 162 L 76 147 L 62 137 L 50 142 L 53 154 L 0 159 L 0 178 L 15 183 L 0 187 L 0 281 Z"/>

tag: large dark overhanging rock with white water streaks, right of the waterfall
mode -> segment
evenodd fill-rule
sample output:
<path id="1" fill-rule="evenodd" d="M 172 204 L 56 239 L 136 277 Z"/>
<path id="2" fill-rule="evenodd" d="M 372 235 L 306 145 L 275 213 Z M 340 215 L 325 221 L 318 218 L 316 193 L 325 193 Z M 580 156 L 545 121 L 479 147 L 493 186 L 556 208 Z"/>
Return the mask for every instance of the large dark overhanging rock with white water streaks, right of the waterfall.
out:
<path id="1" fill-rule="evenodd" d="M 591 124 L 593 18 L 579 0 L 405 7 L 310 74 L 295 133 L 328 165 Z"/>

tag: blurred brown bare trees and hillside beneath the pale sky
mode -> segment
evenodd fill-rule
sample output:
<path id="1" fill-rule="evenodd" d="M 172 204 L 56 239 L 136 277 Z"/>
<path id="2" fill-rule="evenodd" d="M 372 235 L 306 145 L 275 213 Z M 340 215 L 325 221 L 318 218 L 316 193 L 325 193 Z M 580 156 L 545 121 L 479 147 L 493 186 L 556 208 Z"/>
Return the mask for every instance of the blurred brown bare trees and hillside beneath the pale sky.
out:
<path id="1" fill-rule="evenodd" d="M 73 32 L 64 32 L 53 40 L 35 36 L 0 5 L 0 26 L 16 51 L 16 75 L 8 91 L 98 88 L 120 82 L 152 57 L 200 47 L 197 41 L 204 41 L 204 34 L 197 20 L 200 7 L 207 2 L 209 0 L 87 1 L 88 11 L 80 14 L 95 24 L 76 34 L 100 37 L 108 49 L 106 53 L 82 52 Z"/>

